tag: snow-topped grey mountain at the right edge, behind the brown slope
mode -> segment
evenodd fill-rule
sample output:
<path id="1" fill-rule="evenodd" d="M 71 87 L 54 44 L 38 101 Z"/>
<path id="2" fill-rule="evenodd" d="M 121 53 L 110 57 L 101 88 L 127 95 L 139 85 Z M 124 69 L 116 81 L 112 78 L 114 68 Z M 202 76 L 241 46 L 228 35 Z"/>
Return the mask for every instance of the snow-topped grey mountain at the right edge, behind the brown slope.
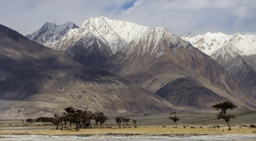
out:
<path id="1" fill-rule="evenodd" d="M 233 80 L 253 97 L 256 95 L 256 36 L 235 33 L 188 33 L 181 37 L 218 61 Z M 250 63 L 248 63 L 250 62 Z"/>

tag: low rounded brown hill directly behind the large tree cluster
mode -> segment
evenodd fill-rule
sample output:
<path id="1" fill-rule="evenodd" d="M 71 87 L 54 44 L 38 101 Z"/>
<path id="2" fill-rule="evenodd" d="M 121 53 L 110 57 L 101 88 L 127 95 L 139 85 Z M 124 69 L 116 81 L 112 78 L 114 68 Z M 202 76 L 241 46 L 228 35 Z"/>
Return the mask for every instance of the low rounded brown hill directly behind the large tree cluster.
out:
<path id="1" fill-rule="evenodd" d="M 106 71 L 88 67 L 12 74 L 0 83 L 1 119 L 61 114 L 74 107 L 108 116 L 186 111 Z"/>

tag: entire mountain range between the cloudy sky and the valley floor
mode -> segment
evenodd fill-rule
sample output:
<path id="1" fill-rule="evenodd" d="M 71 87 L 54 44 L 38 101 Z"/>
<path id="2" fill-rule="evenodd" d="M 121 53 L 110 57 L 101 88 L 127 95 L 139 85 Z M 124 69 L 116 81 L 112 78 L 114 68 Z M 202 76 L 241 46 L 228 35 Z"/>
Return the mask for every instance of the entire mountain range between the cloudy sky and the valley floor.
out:
<path id="1" fill-rule="evenodd" d="M 10 38 L 11 34 L 6 35 L 7 27 L 4 29 L 1 34 Z M 9 41 L 25 45 L 27 54 L 35 55 L 27 58 L 23 53 L 8 65 L 5 60 L 13 60 L 13 53 L 19 52 L 18 45 L 8 47 L 16 51 L 0 62 L 6 68 L 1 69 L 4 79 L 0 83 L 0 104 L 5 105 L 2 112 L 5 119 L 10 115 L 24 118 L 33 112 L 35 116 L 52 115 L 64 105 L 72 105 L 113 116 L 171 111 L 209 113 L 214 112 L 212 105 L 224 101 L 235 103 L 238 110 L 255 110 L 253 36 L 213 33 L 210 38 L 207 34 L 188 33 L 180 38 L 164 27 L 151 28 L 106 17 L 92 17 L 80 27 L 72 22 L 46 23 L 26 36 L 32 41 L 19 35 L 0 42 L 4 50 Z M 248 43 L 244 40 L 250 40 L 251 48 L 240 50 L 238 45 Z M 22 44 L 25 41 L 28 43 Z M 42 53 L 35 53 L 38 49 Z M 66 59 L 48 55 L 44 50 L 65 56 L 67 65 L 51 64 Z M 214 53 L 216 58 L 233 58 L 226 57 L 220 63 Z M 44 56 L 47 63 L 37 56 Z M 34 104 L 25 108 L 24 101 Z M 17 113 L 19 107 L 23 110 Z"/>

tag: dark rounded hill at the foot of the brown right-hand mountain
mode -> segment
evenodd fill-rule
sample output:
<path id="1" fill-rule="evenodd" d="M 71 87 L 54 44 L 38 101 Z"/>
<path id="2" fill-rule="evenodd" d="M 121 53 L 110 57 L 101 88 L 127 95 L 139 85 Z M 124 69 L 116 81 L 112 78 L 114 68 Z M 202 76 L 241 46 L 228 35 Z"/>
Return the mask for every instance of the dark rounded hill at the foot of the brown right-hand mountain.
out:
<path id="1" fill-rule="evenodd" d="M 189 107 L 211 108 L 211 105 L 227 101 L 228 99 L 219 96 L 200 82 L 190 78 L 178 78 L 163 86 L 157 94 L 175 105 Z M 202 99 L 205 102 L 202 102 Z"/>

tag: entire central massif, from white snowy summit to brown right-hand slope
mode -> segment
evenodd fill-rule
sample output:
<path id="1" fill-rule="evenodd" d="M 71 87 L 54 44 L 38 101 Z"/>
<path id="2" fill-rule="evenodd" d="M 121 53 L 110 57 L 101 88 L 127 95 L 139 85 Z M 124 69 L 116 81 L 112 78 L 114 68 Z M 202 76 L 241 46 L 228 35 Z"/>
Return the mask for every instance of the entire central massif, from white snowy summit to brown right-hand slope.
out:
<path id="1" fill-rule="evenodd" d="M 255 99 L 248 100 L 252 96 L 221 65 L 163 27 L 150 28 L 106 17 L 90 18 L 80 28 L 70 30 L 52 48 L 85 66 L 125 77 L 153 93 L 165 85 L 165 89 L 172 86 L 167 84 L 173 80 L 190 78 L 205 92 L 211 92 L 211 96 L 218 95 L 212 103 L 228 99 L 240 105 L 240 109 L 255 108 Z M 179 83 L 177 87 L 182 85 Z M 195 95 L 184 101 L 195 102 Z M 174 99 L 169 102 L 177 103 Z M 211 108 L 207 94 L 200 102 L 194 106 Z"/>

